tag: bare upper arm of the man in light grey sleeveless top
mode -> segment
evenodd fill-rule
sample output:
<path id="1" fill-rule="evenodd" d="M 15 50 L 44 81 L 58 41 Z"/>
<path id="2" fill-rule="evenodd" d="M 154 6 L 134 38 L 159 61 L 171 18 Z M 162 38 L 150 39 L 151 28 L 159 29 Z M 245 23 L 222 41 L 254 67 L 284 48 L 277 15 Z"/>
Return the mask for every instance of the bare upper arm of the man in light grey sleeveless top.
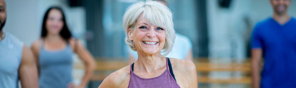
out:
<path id="1" fill-rule="evenodd" d="M 32 51 L 24 45 L 19 68 L 22 88 L 39 88 L 37 66 Z"/>

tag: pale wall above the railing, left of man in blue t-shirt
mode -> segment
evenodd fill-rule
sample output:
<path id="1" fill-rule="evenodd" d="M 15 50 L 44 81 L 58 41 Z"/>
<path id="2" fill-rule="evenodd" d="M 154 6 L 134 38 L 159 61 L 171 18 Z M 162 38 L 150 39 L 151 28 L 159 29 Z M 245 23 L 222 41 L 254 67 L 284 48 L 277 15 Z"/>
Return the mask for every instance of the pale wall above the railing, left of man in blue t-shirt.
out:
<path id="1" fill-rule="evenodd" d="M 209 57 L 244 58 L 240 25 L 250 15 L 250 0 L 233 0 L 229 9 L 220 7 L 218 0 L 207 0 L 206 3 Z"/>

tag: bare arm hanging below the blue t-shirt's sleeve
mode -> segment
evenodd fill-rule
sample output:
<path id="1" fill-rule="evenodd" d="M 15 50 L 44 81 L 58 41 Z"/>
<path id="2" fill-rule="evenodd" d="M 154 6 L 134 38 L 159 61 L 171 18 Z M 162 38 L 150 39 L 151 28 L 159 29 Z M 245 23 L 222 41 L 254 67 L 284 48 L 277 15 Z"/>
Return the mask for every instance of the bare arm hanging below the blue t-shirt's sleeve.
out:
<path id="1" fill-rule="evenodd" d="M 252 49 L 252 88 L 260 88 L 260 62 L 262 57 L 262 49 Z"/>

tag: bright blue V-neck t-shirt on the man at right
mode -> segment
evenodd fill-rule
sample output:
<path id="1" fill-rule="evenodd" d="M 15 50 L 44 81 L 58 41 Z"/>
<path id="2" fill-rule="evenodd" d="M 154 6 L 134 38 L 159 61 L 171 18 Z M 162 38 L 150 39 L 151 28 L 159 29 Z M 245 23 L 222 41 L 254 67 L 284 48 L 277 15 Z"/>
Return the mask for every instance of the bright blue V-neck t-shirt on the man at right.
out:
<path id="1" fill-rule="evenodd" d="M 251 48 L 263 50 L 261 88 L 296 88 L 296 19 L 280 25 L 273 18 L 258 23 Z"/>

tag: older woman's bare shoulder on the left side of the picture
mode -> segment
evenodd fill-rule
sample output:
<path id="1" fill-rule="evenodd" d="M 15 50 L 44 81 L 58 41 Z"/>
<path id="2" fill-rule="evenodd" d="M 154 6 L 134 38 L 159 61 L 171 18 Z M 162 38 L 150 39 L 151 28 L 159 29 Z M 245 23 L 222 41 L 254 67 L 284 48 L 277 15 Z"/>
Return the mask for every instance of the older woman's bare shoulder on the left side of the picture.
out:
<path id="1" fill-rule="evenodd" d="M 128 65 L 111 73 L 106 79 L 104 79 L 99 88 L 128 87 L 130 70 L 130 65 Z"/>

